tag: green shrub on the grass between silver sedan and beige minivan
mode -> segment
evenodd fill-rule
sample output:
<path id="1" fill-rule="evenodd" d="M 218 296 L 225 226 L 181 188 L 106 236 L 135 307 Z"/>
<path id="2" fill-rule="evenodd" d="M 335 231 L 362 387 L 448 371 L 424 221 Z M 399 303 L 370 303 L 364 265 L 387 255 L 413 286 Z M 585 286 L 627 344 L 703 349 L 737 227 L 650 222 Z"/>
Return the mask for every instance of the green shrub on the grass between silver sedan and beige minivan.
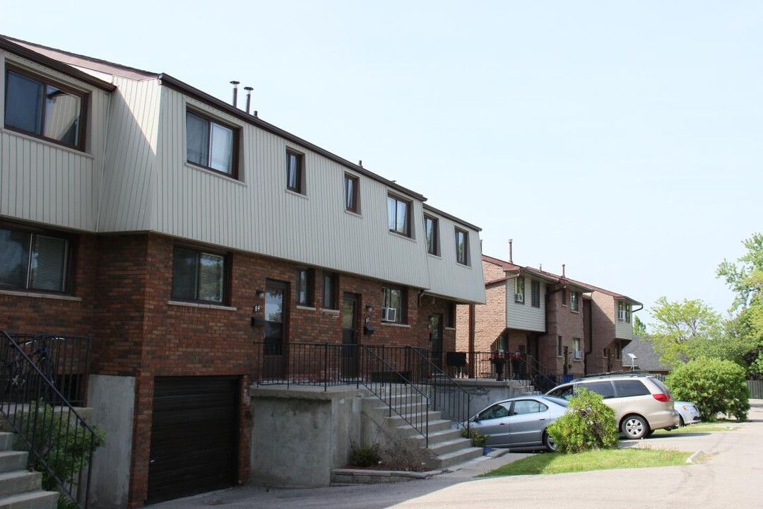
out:
<path id="1" fill-rule="evenodd" d="M 567 408 L 566 414 L 546 428 L 560 453 L 617 447 L 615 412 L 600 395 L 581 388 Z"/>

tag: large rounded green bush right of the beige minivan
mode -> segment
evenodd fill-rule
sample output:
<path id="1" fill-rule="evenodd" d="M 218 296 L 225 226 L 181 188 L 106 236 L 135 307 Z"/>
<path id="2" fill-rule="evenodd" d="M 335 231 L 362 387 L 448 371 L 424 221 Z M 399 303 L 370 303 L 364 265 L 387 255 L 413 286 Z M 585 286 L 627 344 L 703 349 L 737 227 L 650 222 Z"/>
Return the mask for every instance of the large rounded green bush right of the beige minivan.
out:
<path id="1" fill-rule="evenodd" d="M 729 360 L 696 359 L 674 369 L 665 379 L 673 398 L 697 405 L 703 420 L 719 413 L 747 420 L 750 391 L 745 369 Z"/>

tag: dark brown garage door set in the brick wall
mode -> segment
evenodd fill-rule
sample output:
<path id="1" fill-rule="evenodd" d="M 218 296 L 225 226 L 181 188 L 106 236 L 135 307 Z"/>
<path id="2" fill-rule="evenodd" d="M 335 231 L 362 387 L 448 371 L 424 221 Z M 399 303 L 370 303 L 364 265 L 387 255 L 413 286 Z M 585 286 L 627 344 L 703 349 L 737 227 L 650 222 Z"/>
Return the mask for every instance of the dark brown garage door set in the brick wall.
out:
<path id="1" fill-rule="evenodd" d="M 155 379 L 148 503 L 236 482 L 238 387 L 235 378 Z"/>

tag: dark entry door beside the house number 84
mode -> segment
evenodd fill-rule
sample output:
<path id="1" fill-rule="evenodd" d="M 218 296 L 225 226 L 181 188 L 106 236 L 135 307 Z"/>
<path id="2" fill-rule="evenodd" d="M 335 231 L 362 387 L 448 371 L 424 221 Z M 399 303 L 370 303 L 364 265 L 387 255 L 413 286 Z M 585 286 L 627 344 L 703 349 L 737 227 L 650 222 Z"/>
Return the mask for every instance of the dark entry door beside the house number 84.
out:
<path id="1" fill-rule="evenodd" d="M 268 280 L 265 288 L 265 360 L 262 371 L 269 379 L 280 379 L 286 375 L 287 296 L 288 283 Z"/>

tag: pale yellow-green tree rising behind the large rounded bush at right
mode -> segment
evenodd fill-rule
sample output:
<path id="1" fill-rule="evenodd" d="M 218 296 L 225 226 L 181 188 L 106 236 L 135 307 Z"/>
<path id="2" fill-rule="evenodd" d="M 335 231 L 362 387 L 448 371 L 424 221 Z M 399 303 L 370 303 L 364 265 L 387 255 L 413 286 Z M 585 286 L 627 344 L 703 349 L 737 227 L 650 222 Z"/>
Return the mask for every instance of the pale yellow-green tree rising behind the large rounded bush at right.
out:
<path id="1" fill-rule="evenodd" d="M 723 318 L 699 299 L 671 302 L 665 297 L 657 299 L 649 311 L 655 319 L 652 333 L 647 339 L 665 364 L 677 366 L 707 350 L 723 352 Z M 712 355 L 712 354 L 710 354 Z"/>

